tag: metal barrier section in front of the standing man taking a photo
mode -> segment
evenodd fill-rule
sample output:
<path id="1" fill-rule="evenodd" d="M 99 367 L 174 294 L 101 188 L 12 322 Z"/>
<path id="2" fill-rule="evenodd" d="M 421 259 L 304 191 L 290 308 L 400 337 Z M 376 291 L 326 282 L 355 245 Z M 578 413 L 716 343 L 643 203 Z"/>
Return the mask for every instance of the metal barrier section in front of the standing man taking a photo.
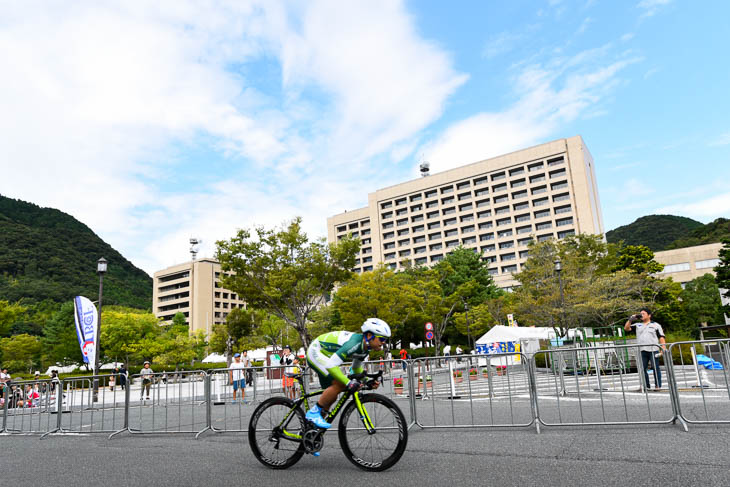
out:
<path id="1" fill-rule="evenodd" d="M 655 390 L 654 370 L 647 370 L 652 387 L 644 384 L 639 348 L 599 343 L 536 352 L 532 363 L 537 421 L 545 426 L 674 422 L 674 390 L 666 357 L 658 346 L 647 351 L 652 357 L 649 366 L 656 362 L 663 379 L 662 387 Z M 616 357 L 623 360 L 612 360 Z M 538 368 L 538 363 L 545 366 Z"/>

